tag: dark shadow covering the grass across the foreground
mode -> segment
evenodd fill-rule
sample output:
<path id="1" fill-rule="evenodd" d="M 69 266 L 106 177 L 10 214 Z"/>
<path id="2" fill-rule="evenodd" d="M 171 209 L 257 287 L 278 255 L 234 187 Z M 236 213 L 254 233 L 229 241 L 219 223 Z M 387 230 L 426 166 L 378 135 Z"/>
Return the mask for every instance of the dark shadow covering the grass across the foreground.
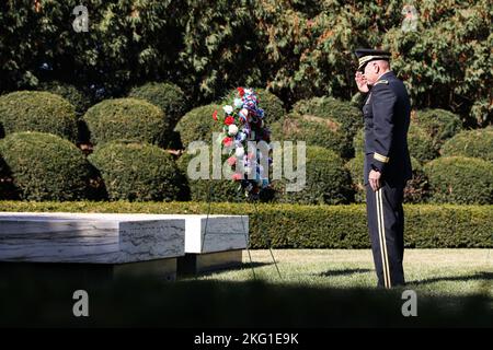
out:
<path id="1" fill-rule="evenodd" d="M 76 290 L 90 317 L 72 315 Z M 332 289 L 261 281 L 0 280 L 0 326 L 27 327 L 491 327 L 492 299 L 419 293 L 403 317 L 400 290 Z"/>

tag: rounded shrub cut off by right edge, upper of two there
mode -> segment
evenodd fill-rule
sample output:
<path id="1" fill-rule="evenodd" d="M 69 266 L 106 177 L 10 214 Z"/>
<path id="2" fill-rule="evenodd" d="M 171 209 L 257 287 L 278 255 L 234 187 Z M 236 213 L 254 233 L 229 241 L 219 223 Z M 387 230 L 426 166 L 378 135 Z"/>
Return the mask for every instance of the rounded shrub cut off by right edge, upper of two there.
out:
<path id="1" fill-rule="evenodd" d="M 447 140 L 440 150 L 444 156 L 470 156 L 493 162 L 493 128 L 461 131 Z"/>

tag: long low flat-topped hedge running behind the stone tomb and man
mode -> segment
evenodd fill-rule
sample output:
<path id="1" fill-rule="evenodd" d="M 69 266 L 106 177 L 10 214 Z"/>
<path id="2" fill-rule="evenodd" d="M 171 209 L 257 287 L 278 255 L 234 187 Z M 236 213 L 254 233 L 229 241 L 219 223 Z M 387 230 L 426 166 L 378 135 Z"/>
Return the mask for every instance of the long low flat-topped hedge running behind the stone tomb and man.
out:
<path id="1" fill-rule="evenodd" d="M 206 202 L 19 202 L 0 201 L 2 211 L 69 211 L 195 214 Z M 266 248 L 369 248 L 364 205 L 299 206 L 211 203 L 214 214 L 250 217 L 250 246 Z M 492 248 L 493 206 L 405 205 L 405 246 L 409 248 Z M 259 231 L 259 229 L 261 229 Z"/>

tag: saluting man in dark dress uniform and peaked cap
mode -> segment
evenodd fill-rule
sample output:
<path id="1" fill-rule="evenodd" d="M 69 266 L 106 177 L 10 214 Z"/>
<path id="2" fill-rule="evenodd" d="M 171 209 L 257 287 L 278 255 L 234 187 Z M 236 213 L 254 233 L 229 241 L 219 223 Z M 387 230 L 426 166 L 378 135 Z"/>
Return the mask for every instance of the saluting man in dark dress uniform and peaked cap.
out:
<path id="1" fill-rule="evenodd" d="M 368 229 L 378 285 L 404 284 L 404 187 L 411 178 L 408 150 L 410 100 L 390 70 L 390 52 L 357 49 L 356 84 L 366 94 L 365 186 Z"/>

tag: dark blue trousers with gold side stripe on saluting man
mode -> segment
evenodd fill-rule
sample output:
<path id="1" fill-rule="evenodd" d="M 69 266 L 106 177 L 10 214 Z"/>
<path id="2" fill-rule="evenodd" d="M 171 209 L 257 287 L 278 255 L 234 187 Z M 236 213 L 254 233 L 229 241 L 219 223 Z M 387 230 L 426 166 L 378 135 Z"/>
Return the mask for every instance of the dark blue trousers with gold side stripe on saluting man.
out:
<path id="1" fill-rule="evenodd" d="M 378 191 L 366 185 L 366 211 L 378 287 L 404 284 L 403 187 L 383 182 Z"/>

